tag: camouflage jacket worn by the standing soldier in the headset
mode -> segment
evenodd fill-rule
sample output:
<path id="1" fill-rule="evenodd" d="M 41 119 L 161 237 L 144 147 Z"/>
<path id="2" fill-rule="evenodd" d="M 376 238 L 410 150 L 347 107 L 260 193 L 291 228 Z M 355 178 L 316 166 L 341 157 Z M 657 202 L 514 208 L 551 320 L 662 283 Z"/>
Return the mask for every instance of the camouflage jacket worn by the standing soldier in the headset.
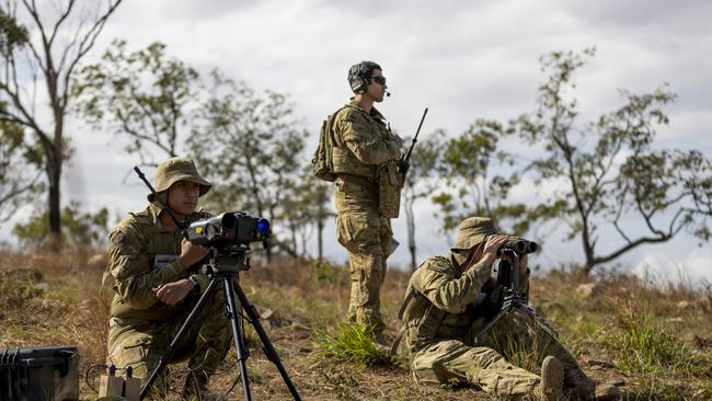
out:
<path id="1" fill-rule="evenodd" d="M 401 152 L 383 121 L 375 107 L 366 113 L 356 101 L 336 113 L 332 150 L 335 174 L 353 174 L 376 183 L 378 165 L 398 161 Z"/>

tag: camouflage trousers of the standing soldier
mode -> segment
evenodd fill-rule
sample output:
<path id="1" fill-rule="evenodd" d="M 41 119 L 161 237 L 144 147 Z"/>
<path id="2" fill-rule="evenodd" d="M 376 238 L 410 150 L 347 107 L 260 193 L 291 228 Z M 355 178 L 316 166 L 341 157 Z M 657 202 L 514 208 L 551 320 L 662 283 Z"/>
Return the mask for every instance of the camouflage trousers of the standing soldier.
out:
<path id="1" fill-rule="evenodd" d="M 338 243 L 348 252 L 352 288 L 347 319 L 371 328 L 374 336 L 379 337 L 386 328 L 380 289 L 393 239 L 390 220 L 377 211 L 341 213 L 336 232 Z"/>

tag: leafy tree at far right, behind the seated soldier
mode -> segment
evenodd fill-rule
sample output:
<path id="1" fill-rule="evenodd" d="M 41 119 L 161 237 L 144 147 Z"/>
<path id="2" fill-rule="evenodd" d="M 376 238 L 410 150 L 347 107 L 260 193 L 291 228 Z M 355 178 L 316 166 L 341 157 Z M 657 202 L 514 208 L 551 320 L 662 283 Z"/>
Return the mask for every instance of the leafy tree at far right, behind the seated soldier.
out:
<path id="1" fill-rule="evenodd" d="M 622 106 L 577 124 L 577 101 L 566 96 L 575 89 L 574 73 L 594 54 L 542 57 L 548 78 L 539 88 L 538 110 L 515 122 L 521 138 L 544 150 L 528 171 L 537 183 L 558 183 L 530 217 L 564 221 L 567 239 L 579 237 L 586 273 L 642 244 L 666 242 L 686 228 L 709 240 L 712 211 L 710 161 L 697 150 L 654 148 L 656 128 L 668 124 L 663 106 L 675 99 L 666 85 L 645 94 L 621 90 Z M 598 240 L 608 232 L 621 243 L 602 252 Z"/>

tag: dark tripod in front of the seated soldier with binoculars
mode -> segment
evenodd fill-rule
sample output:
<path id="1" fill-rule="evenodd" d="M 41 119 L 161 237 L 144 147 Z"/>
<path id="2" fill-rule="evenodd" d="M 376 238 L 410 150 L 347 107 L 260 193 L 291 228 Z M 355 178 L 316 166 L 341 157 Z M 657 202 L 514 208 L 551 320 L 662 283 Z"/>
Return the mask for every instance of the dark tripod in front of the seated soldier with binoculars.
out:
<path id="1" fill-rule="evenodd" d="M 503 249 L 502 256 L 497 270 L 497 287 L 489 299 L 485 299 L 485 302 L 489 302 L 490 307 L 497 308 L 498 312 L 473 336 L 474 342 L 484 340 L 484 336 L 495 323 L 514 311 L 526 314 L 555 339 L 558 336 L 556 331 L 527 305 L 528 295 L 519 291 L 519 253 L 510 249 Z"/>

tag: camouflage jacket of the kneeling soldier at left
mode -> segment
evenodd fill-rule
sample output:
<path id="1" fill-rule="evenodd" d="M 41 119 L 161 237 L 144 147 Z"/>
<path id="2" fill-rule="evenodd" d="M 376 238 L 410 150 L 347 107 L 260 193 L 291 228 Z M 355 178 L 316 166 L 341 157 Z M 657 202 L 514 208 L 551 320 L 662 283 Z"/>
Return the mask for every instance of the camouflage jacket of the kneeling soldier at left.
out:
<path id="1" fill-rule="evenodd" d="M 112 318 L 153 321 L 174 316 L 182 302 L 170 307 L 158 300 L 153 288 L 161 284 L 187 278 L 192 270 L 183 270 L 177 256 L 183 237 L 179 230 L 164 226 L 160 208 L 150 204 L 143 211 L 130 214 L 110 233 L 108 265 L 103 277 L 103 290 L 110 301 Z M 191 220 L 208 217 L 203 211 Z M 208 277 L 195 274 L 202 290 Z"/>

